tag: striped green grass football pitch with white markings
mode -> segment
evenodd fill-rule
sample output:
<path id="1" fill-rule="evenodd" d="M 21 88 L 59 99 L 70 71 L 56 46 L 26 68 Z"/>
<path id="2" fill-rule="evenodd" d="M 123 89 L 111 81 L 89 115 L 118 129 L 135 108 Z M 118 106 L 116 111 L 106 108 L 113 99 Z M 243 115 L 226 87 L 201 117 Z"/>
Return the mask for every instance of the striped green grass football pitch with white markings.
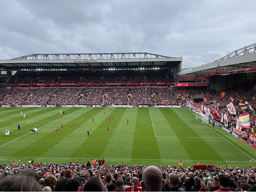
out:
<path id="1" fill-rule="evenodd" d="M 0 122 L 0 165 L 30 158 L 34 163 L 87 163 L 103 157 L 107 165 L 178 166 L 182 160 L 183 167 L 198 162 L 255 166 L 255 149 L 217 126 L 202 124 L 187 108 L 112 107 L 110 112 L 110 107 L 1 107 Z M 33 127 L 36 134 L 30 133 Z"/>

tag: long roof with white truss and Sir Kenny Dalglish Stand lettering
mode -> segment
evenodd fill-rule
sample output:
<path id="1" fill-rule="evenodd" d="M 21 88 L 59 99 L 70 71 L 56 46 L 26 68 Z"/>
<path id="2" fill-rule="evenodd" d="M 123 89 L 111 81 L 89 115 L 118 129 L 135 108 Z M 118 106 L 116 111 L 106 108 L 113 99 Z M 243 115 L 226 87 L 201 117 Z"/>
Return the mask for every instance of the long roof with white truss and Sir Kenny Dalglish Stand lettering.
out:
<path id="1" fill-rule="evenodd" d="M 31 54 L 9 60 L 0 60 L 1 69 L 8 71 L 35 69 L 103 70 L 108 68 L 175 68 L 182 58 L 147 52 L 134 53 L 55 53 Z"/>

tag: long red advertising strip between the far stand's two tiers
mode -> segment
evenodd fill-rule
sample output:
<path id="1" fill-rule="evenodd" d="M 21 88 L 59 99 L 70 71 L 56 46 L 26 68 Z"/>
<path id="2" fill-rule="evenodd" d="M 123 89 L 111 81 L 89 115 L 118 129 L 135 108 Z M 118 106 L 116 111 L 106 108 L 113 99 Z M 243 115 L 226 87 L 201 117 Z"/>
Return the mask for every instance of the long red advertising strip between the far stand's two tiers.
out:
<path id="1" fill-rule="evenodd" d="M 145 82 L 145 83 L 6 83 L 6 86 L 66 86 L 66 85 L 174 85 L 174 82 Z M 207 83 L 208 84 L 208 83 Z M 198 85 L 202 86 L 202 85 Z M 206 85 L 204 85 L 206 86 Z M 207 85 L 208 86 L 208 85 Z"/>

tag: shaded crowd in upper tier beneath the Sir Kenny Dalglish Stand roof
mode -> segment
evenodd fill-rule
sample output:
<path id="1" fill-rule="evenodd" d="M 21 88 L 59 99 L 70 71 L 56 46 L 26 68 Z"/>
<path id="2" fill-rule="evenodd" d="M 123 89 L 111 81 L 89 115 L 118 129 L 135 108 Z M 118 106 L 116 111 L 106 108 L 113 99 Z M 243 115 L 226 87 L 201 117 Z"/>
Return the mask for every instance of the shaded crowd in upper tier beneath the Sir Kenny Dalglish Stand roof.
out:
<path id="1" fill-rule="evenodd" d="M 174 82 L 168 70 L 17 71 L 8 83 Z"/>

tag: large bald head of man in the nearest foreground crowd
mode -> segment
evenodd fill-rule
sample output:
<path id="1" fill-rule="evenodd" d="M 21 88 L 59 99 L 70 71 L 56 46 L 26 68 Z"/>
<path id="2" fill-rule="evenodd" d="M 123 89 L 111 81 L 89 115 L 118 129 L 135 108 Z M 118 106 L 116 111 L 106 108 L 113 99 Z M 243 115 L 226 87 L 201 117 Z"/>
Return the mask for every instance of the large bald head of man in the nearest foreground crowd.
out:
<path id="1" fill-rule="evenodd" d="M 149 166 L 143 171 L 141 187 L 144 191 L 162 191 L 163 185 L 164 180 L 159 168 Z"/>

